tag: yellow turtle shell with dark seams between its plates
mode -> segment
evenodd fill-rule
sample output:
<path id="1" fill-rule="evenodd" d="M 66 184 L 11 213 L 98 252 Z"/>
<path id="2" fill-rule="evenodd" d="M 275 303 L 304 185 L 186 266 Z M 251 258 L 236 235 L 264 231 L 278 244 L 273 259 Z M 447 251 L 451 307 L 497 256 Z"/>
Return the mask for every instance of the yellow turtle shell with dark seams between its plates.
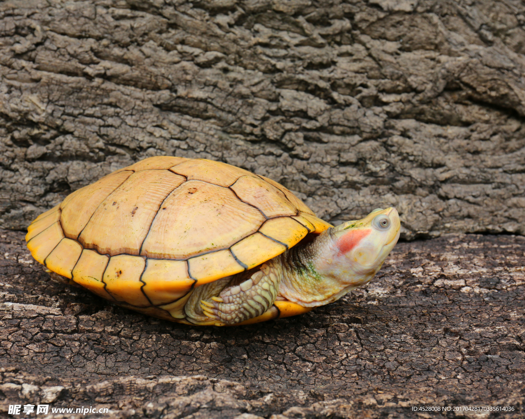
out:
<path id="1" fill-rule="evenodd" d="M 71 193 L 29 225 L 26 241 L 50 271 L 114 303 L 208 324 L 184 313 L 196 286 L 254 268 L 330 226 L 270 179 L 158 156 Z M 286 301 L 272 309 L 244 323 L 310 310 Z"/>

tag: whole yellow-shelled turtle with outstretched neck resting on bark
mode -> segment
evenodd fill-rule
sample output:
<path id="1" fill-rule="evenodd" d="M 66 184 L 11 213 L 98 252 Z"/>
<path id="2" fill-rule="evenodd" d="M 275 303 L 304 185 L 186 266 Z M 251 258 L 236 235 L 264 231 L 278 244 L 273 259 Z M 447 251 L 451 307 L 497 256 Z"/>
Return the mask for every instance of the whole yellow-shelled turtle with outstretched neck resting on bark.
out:
<path id="1" fill-rule="evenodd" d="M 230 164 L 146 158 L 28 227 L 51 277 L 191 325 L 306 313 L 366 284 L 400 236 L 394 207 L 333 226 L 285 186 Z"/>

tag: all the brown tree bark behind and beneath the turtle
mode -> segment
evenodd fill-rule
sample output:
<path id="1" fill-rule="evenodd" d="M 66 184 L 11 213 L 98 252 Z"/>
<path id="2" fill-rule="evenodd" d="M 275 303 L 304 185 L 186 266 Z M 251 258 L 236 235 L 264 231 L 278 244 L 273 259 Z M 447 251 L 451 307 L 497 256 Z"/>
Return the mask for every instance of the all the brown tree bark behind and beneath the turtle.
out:
<path id="1" fill-rule="evenodd" d="M 512 0 L 0 2 L 0 415 L 523 417 L 524 25 Z M 395 205 L 428 240 L 241 328 L 51 281 L 16 230 L 163 154 L 265 175 L 334 224 Z"/>

